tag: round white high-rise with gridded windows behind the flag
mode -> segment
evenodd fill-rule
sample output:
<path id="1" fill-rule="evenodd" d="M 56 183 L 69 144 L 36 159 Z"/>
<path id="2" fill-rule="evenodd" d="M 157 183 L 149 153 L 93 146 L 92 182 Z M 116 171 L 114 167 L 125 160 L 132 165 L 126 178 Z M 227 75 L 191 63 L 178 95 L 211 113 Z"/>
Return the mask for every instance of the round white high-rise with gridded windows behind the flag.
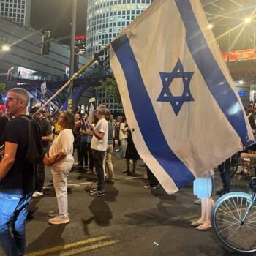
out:
<path id="1" fill-rule="evenodd" d="M 86 56 L 107 45 L 154 0 L 88 0 Z M 108 56 L 108 53 L 105 53 Z"/>

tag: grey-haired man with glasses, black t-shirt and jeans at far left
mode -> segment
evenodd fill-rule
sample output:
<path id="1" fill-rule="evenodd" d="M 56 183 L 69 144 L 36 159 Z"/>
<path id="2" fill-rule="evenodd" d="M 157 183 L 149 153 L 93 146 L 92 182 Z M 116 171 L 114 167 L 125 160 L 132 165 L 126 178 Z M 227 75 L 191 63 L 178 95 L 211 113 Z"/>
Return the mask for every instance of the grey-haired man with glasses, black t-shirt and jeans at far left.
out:
<path id="1" fill-rule="evenodd" d="M 25 89 L 13 88 L 5 101 L 7 114 L 14 116 L 4 129 L 4 157 L 0 162 L 0 245 L 7 255 L 24 255 L 25 222 L 34 192 L 34 165 L 26 161 L 28 122 L 18 118 L 26 115 L 29 99 Z"/>

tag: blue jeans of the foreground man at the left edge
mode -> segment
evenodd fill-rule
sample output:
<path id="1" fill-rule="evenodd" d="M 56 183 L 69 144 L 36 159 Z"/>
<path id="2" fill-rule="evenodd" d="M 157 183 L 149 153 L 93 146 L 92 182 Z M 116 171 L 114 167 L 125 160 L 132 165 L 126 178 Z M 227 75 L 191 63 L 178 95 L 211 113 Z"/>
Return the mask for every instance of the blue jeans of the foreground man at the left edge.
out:
<path id="1" fill-rule="evenodd" d="M 10 195 L 0 192 L 0 245 L 7 256 L 24 255 L 25 222 L 30 200 L 31 194 Z"/>

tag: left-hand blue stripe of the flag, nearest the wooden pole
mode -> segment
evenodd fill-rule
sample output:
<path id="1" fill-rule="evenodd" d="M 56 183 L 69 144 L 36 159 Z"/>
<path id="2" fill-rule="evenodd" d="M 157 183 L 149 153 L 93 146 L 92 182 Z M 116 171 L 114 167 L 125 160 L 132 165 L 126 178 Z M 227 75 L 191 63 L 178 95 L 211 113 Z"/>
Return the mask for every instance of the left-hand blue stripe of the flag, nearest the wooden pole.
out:
<path id="1" fill-rule="evenodd" d="M 129 39 L 124 35 L 111 42 L 111 45 L 124 71 L 133 112 L 148 150 L 173 179 L 176 186 L 183 187 L 195 177 L 176 157 L 165 139 L 140 75 L 135 55 L 129 45 Z M 152 130 L 154 130 L 154 134 Z"/>

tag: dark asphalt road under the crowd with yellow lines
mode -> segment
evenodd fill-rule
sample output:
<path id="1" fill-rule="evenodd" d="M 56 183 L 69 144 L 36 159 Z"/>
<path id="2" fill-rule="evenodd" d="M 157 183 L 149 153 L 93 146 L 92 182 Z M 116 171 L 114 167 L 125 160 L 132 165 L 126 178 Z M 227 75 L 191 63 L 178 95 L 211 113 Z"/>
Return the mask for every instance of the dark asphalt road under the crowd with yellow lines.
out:
<path id="1" fill-rule="evenodd" d="M 105 184 L 104 197 L 89 195 L 97 176 L 70 173 L 67 225 L 48 224 L 48 211 L 55 210 L 57 203 L 50 170 L 46 171 L 45 195 L 32 200 L 29 209 L 26 255 L 233 255 L 222 248 L 213 231 L 190 227 L 200 216 L 200 206 L 193 204 L 192 184 L 174 195 L 161 187 L 144 189 L 142 162 L 138 176 L 130 177 L 122 173 L 124 159 L 113 159 L 115 184 Z M 246 179 L 233 179 L 233 190 L 246 191 Z M 214 187 L 220 186 L 217 174 Z"/>

